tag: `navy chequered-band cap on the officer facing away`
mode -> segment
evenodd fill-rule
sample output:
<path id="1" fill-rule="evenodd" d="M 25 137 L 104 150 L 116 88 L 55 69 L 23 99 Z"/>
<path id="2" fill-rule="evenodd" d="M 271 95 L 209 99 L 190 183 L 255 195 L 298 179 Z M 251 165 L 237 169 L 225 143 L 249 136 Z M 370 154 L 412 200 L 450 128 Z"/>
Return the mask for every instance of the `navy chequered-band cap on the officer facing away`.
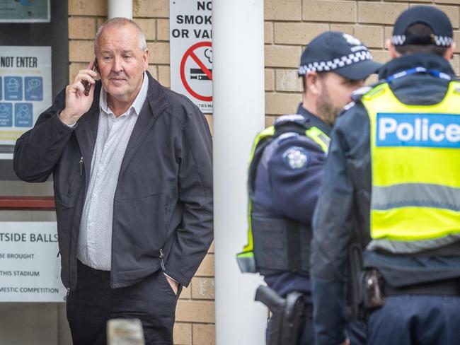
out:
<path id="1" fill-rule="evenodd" d="M 422 23 L 428 25 L 432 35 L 409 35 L 411 25 Z M 453 42 L 452 24 L 449 17 L 432 6 L 414 6 L 401 13 L 396 19 L 391 37 L 393 45 L 437 45 L 449 47 Z"/>

